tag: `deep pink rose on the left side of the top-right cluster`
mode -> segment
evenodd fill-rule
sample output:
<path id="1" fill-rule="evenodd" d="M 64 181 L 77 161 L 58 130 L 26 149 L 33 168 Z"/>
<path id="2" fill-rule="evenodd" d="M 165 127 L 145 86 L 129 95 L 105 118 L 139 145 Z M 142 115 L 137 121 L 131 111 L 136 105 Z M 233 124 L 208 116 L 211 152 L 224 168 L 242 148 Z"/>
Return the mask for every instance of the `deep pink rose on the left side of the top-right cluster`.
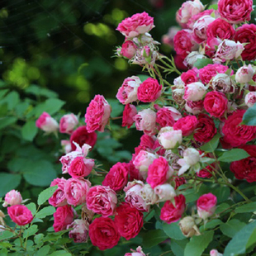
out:
<path id="1" fill-rule="evenodd" d="M 173 41 L 174 50 L 177 55 L 181 55 L 183 59 L 193 50 L 197 50 L 197 44 L 192 40 L 191 30 L 178 31 Z"/>

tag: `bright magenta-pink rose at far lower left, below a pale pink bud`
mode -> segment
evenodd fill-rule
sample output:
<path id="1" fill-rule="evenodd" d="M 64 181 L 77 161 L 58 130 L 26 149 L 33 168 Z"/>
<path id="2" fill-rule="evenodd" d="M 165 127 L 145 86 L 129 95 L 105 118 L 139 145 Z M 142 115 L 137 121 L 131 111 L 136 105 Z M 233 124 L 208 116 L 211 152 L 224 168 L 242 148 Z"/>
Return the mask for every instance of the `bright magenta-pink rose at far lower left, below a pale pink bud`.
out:
<path id="1" fill-rule="evenodd" d="M 26 206 L 14 205 L 7 207 L 7 212 L 10 218 L 17 225 L 26 225 L 31 223 L 33 216 Z"/>

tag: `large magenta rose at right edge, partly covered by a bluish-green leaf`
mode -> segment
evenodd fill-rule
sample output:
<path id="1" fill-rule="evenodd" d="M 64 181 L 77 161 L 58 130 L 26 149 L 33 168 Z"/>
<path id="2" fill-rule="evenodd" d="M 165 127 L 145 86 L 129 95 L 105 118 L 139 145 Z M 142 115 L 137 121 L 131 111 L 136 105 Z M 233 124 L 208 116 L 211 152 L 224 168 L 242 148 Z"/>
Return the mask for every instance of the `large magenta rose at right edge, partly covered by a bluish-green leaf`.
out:
<path id="1" fill-rule="evenodd" d="M 245 110 L 234 111 L 222 127 L 223 141 L 232 147 L 245 145 L 256 138 L 256 126 L 241 125 Z"/>

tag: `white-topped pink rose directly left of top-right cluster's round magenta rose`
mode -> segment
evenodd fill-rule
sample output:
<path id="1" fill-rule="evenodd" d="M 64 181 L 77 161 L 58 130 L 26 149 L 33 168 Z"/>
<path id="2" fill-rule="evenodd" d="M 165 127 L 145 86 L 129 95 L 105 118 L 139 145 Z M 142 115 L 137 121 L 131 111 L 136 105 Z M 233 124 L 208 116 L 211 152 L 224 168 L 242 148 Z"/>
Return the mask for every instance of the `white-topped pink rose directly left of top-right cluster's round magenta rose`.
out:
<path id="1" fill-rule="evenodd" d="M 193 40 L 197 44 L 201 44 L 207 39 L 207 27 L 211 24 L 212 21 L 215 21 L 215 18 L 206 15 L 201 17 L 193 26 Z"/>

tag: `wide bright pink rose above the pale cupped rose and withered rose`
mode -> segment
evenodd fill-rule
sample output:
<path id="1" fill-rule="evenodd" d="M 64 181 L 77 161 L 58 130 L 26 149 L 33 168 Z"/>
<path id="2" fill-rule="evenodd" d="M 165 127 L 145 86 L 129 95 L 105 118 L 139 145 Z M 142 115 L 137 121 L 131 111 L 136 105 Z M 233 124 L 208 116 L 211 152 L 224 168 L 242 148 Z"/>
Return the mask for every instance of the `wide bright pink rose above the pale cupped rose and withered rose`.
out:
<path id="1" fill-rule="evenodd" d="M 208 84 L 211 78 L 215 77 L 217 73 L 225 73 L 228 69 L 228 66 L 221 64 L 207 64 L 204 68 L 199 69 L 201 83 Z M 232 71 L 231 74 L 233 73 Z"/>

